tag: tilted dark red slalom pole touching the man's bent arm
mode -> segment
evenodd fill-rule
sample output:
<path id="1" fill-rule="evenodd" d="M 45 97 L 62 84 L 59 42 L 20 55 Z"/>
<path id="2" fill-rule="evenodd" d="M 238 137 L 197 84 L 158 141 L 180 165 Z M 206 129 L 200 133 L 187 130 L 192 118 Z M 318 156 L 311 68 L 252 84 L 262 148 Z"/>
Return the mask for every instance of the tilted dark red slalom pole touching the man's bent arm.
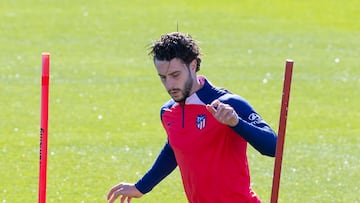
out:
<path id="1" fill-rule="evenodd" d="M 278 140 L 277 140 L 276 152 L 275 152 L 274 176 L 273 176 L 273 184 L 272 184 L 270 203 L 277 203 L 278 196 L 279 196 L 281 165 L 282 165 L 282 156 L 283 156 L 283 151 L 284 151 L 286 120 L 287 120 L 287 113 L 288 113 L 288 106 L 289 106 L 293 64 L 294 64 L 293 60 L 291 60 L 291 59 L 286 60 L 284 86 L 283 86 L 281 109 L 280 109 Z"/>

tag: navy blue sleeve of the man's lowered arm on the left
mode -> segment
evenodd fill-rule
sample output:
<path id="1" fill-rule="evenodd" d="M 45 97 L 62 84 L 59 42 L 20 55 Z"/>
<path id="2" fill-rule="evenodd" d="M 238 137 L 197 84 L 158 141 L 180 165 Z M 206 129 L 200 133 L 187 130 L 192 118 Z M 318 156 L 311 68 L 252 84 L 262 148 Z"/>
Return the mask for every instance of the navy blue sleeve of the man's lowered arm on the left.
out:
<path id="1" fill-rule="evenodd" d="M 135 187 L 143 194 L 150 192 L 177 166 L 174 151 L 167 142 L 150 170 L 137 182 Z"/>

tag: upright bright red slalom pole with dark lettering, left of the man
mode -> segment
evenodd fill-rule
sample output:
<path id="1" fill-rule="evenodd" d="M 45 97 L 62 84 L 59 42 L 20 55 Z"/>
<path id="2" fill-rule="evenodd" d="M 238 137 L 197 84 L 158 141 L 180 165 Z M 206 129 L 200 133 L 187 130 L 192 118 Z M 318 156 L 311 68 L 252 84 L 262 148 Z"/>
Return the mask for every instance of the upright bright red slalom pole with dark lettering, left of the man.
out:
<path id="1" fill-rule="evenodd" d="M 39 203 L 46 202 L 50 54 L 42 53 Z"/>

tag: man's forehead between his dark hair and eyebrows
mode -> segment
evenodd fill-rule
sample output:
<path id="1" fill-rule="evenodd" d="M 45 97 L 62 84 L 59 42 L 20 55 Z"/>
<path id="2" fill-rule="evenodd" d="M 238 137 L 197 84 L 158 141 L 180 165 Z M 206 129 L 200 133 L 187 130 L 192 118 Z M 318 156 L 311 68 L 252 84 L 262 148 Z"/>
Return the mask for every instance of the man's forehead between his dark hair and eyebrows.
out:
<path id="1" fill-rule="evenodd" d="M 176 71 L 183 71 L 186 64 L 178 58 L 173 58 L 170 61 L 154 60 L 155 67 L 159 75 L 167 75 Z"/>

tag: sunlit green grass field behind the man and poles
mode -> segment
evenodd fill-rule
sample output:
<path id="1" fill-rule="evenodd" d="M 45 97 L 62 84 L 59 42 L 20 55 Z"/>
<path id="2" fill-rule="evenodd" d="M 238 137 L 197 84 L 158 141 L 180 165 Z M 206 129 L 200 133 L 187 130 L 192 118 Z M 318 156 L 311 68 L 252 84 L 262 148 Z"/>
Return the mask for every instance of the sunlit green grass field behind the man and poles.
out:
<path id="1" fill-rule="evenodd" d="M 200 74 L 245 97 L 277 131 L 295 61 L 279 202 L 360 202 L 359 1 L 0 3 L 0 202 L 36 202 L 41 53 L 51 53 L 48 202 L 106 202 L 166 140 L 164 91 L 147 47 L 179 30 L 200 41 Z M 269 202 L 272 158 L 248 150 Z M 176 170 L 133 202 L 186 202 Z"/>

